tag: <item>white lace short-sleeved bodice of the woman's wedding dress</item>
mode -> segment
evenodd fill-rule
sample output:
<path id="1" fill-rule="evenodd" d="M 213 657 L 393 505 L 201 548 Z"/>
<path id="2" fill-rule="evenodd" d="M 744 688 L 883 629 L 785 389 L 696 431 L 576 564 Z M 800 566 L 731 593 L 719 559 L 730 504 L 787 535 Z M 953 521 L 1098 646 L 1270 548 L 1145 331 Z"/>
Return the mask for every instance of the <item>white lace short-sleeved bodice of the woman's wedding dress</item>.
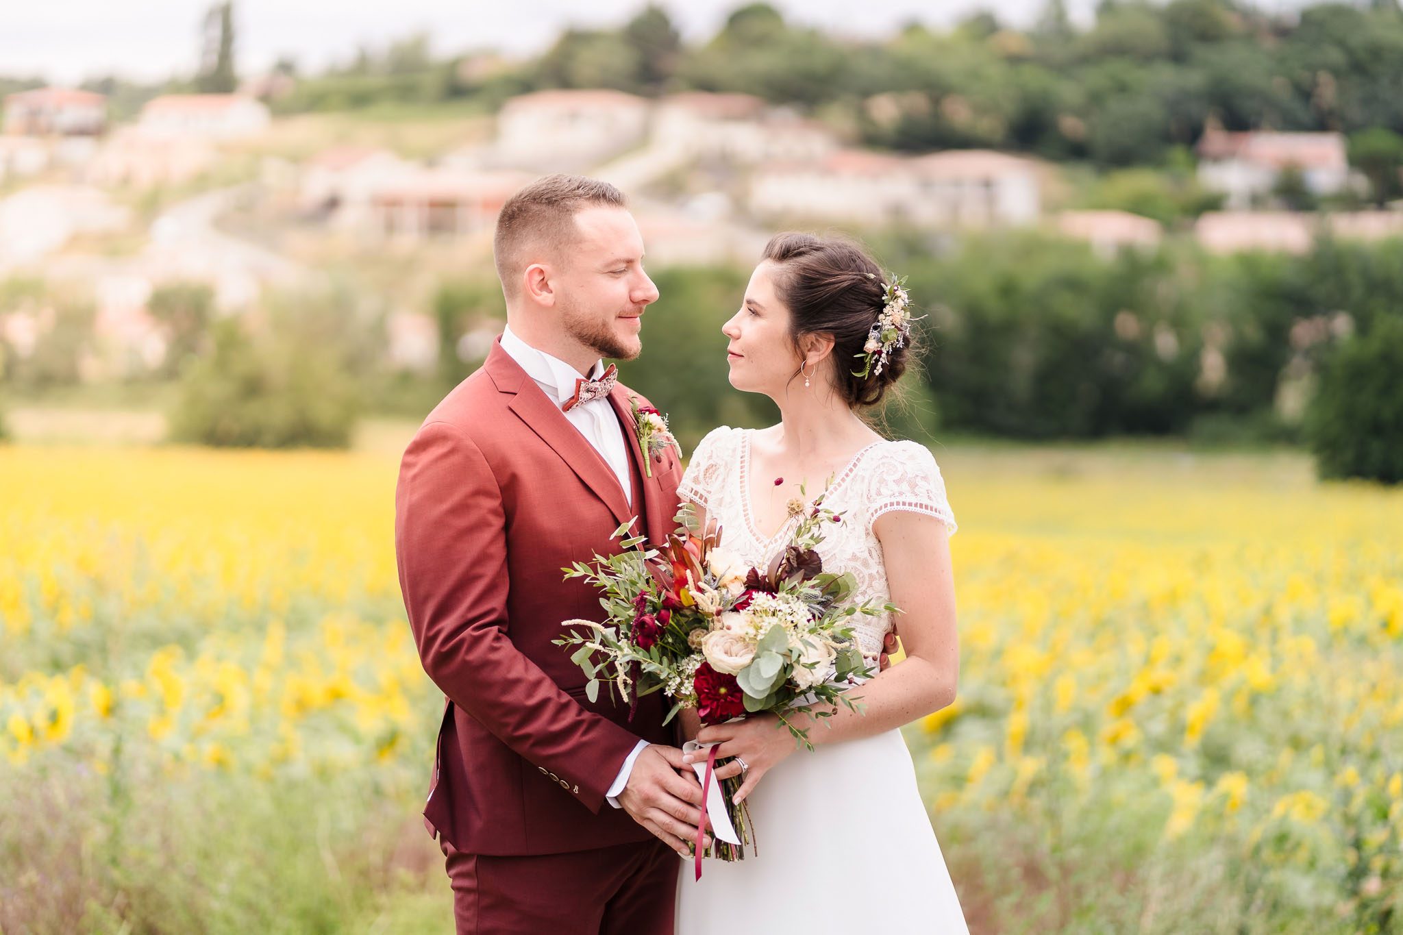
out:
<path id="1" fill-rule="evenodd" d="M 714 429 L 702 439 L 678 495 L 706 509 L 721 524 L 721 545 L 748 565 L 765 568 L 794 530 L 787 520 L 770 537 L 756 528 L 751 512 L 751 436 L 753 429 Z M 815 492 L 810 491 L 812 496 Z M 890 599 L 881 542 L 873 533 L 877 517 L 892 510 L 934 516 L 950 535 L 955 517 L 946 500 L 946 484 L 930 451 L 915 442 L 874 442 L 853 456 L 828 488 L 824 506 L 843 513 L 818 547 L 824 568 L 852 572 L 856 600 L 878 604 Z M 875 660 L 892 628 L 890 614 L 857 615 L 854 629 L 863 653 Z"/>

